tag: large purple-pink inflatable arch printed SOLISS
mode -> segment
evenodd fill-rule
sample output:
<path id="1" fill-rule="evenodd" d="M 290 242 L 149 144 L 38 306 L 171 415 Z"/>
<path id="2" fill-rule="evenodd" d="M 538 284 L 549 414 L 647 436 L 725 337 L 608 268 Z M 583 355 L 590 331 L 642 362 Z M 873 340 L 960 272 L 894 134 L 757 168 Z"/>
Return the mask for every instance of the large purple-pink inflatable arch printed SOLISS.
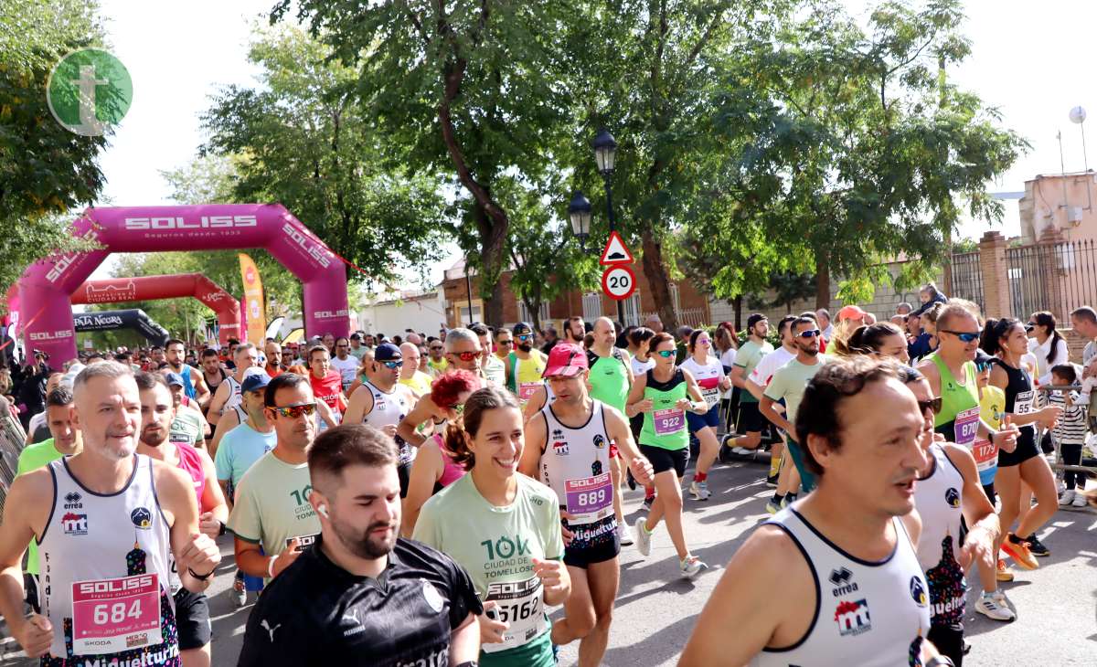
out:
<path id="1" fill-rule="evenodd" d="M 88 208 L 73 223 L 104 248 L 54 255 L 19 280 L 19 320 L 26 349 L 75 359 L 69 297 L 111 252 L 265 248 L 304 285 L 307 336 L 347 336 L 350 316 L 342 262 L 281 204 L 204 204 Z"/>

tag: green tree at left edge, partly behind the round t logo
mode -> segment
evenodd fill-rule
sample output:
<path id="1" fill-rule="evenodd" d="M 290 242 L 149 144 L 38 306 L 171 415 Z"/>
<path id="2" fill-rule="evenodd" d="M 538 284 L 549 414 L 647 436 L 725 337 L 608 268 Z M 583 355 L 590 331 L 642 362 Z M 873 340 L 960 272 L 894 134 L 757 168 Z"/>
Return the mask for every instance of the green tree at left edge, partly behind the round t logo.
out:
<path id="1" fill-rule="evenodd" d="M 73 238 L 71 212 L 102 190 L 97 159 L 108 139 L 63 127 L 43 91 L 65 54 L 102 45 L 98 2 L 0 2 L 0 285 L 48 250 L 94 247 Z"/>

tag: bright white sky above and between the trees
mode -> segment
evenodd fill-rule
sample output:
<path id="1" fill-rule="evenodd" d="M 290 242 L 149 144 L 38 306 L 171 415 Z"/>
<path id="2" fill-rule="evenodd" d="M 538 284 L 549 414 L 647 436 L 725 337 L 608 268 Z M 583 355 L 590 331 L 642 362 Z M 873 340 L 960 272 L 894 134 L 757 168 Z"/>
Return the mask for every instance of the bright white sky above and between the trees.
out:
<path id="1" fill-rule="evenodd" d="M 199 116 L 212 94 L 223 86 L 255 81 L 258 72 L 247 61 L 247 44 L 252 26 L 273 0 L 101 3 L 111 49 L 129 69 L 134 99 L 102 155 L 106 185 L 99 203 L 170 204 L 167 182 L 159 172 L 194 157 L 205 138 Z M 861 18 L 866 8 L 877 4 L 868 0 L 842 3 Z M 1089 80 L 1086 66 L 1097 3 L 969 0 L 965 8 L 963 32 L 972 41 L 972 55 L 949 70 L 949 80 L 997 108 L 1003 124 L 1031 144 L 988 190 L 1022 191 L 1025 181 L 1039 173 L 1059 173 L 1059 132 L 1066 171 L 1082 171 L 1081 127 L 1070 122 L 1068 113 L 1076 105 L 1097 113 L 1097 88 L 1084 83 Z M 1097 142 L 1097 134 L 1088 138 Z M 1097 143 L 1093 145 L 1097 151 Z M 979 238 L 991 228 L 1017 236 L 1017 202 L 1004 204 L 1000 224 L 969 221 L 959 236 Z M 439 262 L 432 276 L 440 280 L 454 259 L 455 253 Z M 111 265 L 104 262 L 95 278 L 108 275 Z"/>

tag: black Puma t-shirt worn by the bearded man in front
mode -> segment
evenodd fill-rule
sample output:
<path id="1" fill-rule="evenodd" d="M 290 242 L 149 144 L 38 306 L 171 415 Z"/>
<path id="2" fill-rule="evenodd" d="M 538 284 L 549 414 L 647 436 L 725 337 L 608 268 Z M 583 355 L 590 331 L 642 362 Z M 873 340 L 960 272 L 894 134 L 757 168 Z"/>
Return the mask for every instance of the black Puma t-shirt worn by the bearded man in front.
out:
<path id="1" fill-rule="evenodd" d="M 373 579 L 333 564 L 318 538 L 263 589 L 239 665 L 443 667 L 470 612 L 483 612 L 473 583 L 441 552 L 400 538 Z"/>

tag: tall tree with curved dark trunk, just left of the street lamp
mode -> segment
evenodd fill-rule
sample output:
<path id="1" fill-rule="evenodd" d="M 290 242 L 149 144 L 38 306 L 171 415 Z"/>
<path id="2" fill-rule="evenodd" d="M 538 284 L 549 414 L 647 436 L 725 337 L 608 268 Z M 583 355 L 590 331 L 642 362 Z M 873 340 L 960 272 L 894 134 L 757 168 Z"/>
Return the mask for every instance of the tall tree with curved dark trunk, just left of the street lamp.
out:
<path id="1" fill-rule="evenodd" d="M 360 66 L 363 113 L 378 118 L 388 158 L 445 174 L 460 190 L 462 237 L 475 239 L 470 255 L 482 276 L 485 321 L 501 325 L 499 278 L 511 217 L 496 190 L 508 176 L 544 189 L 559 144 L 574 140 L 562 76 L 567 55 L 557 33 L 576 7 L 561 0 L 295 4 L 336 55 Z M 272 21 L 290 7 L 278 0 Z"/>

